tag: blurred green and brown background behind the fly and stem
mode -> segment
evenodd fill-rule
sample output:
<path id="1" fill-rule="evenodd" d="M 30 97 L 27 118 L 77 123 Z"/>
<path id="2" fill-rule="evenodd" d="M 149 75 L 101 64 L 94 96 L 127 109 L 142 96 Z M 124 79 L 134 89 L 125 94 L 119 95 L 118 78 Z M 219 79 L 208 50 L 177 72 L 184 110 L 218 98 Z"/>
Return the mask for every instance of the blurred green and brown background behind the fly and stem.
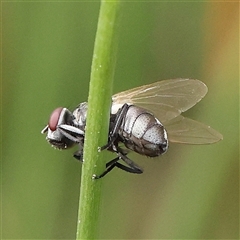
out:
<path id="1" fill-rule="evenodd" d="M 74 239 L 81 164 L 40 134 L 59 106 L 87 100 L 98 2 L 2 3 L 3 239 Z M 197 78 L 207 96 L 185 116 L 224 140 L 131 154 L 144 174 L 103 181 L 101 239 L 239 238 L 239 3 L 125 2 L 114 93 Z M 109 159 L 113 156 L 109 153 Z"/>

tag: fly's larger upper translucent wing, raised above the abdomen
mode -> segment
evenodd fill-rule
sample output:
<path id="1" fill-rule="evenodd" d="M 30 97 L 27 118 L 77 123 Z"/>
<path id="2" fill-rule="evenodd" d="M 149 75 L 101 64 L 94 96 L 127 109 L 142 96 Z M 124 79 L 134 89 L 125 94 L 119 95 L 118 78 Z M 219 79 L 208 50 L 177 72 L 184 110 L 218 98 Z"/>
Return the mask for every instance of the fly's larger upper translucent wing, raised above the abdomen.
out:
<path id="1" fill-rule="evenodd" d="M 115 94 L 113 107 L 134 104 L 151 111 L 164 123 L 193 107 L 206 93 L 207 86 L 199 80 L 162 80 Z"/>

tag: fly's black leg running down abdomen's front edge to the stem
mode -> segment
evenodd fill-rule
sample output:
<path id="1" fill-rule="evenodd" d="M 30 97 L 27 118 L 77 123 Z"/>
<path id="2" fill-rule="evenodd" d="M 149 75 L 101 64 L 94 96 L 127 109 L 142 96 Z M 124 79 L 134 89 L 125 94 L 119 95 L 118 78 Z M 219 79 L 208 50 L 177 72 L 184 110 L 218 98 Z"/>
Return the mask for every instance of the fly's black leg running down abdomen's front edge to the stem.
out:
<path id="1" fill-rule="evenodd" d="M 113 129 L 111 130 L 111 132 L 109 133 L 109 137 L 108 137 L 108 143 L 104 146 L 102 146 L 100 148 L 100 150 L 104 150 L 104 149 L 108 149 L 111 148 L 113 143 L 116 141 L 116 139 L 118 138 L 118 131 L 119 128 L 121 127 L 123 118 L 126 116 L 126 113 L 128 111 L 129 105 L 128 104 L 124 104 L 117 112 L 116 114 L 116 118 L 114 120 L 114 122 L 112 123 L 113 125 Z M 111 123 L 110 123 L 111 124 Z"/>

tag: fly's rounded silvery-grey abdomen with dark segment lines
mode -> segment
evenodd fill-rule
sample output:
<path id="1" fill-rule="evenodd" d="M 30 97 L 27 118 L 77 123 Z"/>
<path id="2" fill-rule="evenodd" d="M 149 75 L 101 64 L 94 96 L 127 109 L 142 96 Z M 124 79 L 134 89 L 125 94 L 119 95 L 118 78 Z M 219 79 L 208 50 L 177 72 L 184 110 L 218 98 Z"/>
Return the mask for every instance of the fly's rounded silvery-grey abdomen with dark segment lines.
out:
<path id="1" fill-rule="evenodd" d="M 156 157 L 167 151 L 167 132 L 147 110 L 130 106 L 120 135 L 125 146 L 139 154 Z"/>

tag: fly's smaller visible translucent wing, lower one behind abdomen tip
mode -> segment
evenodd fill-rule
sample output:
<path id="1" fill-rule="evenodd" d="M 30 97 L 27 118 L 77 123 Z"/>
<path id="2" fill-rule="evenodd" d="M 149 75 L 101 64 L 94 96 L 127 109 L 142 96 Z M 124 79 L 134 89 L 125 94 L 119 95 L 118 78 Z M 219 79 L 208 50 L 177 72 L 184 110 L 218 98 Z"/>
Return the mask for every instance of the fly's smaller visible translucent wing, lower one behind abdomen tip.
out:
<path id="1" fill-rule="evenodd" d="M 213 128 L 182 115 L 169 121 L 165 128 L 169 141 L 174 143 L 210 144 L 223 139 Z"/>

